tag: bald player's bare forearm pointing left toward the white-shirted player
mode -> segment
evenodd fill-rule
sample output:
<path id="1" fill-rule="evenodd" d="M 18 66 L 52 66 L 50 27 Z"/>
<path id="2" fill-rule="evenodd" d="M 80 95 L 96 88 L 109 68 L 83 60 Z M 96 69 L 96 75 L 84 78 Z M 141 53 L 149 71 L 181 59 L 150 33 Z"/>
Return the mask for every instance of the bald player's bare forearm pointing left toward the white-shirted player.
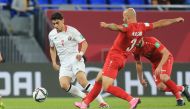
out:
<path id="1" fill-rule="evenodd" d="M 102 27 L 102 28 L 108 28 L 108 29 L 113 30 L 113 31 L 124 32 L 123 26 L 117 25 L 115 23 L 100 22 L 100 27 Z"/>

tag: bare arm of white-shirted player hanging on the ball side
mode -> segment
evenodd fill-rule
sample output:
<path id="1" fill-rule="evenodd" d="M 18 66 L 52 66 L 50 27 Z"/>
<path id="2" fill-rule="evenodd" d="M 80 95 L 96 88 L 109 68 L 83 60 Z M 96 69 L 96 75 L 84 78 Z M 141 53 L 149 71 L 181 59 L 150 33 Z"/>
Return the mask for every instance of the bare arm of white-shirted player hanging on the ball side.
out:
<path id="1" fill-rule="evenodd" d="M 58 71 L 60 66 L 57 64 L 57 61 L 56 61 L 57 52 L 56 52 L 55 47 L 50 47 L 50 56 L 51 56 L 51 61 L 52 61 L 53 68 L 56 71 Z"/>

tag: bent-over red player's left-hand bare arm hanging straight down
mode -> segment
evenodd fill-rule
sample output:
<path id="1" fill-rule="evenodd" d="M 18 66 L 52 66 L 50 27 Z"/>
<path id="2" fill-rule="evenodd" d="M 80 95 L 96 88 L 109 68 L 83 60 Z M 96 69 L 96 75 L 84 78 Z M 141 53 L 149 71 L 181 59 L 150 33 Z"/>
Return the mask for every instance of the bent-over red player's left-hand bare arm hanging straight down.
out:
<path id="1" fill-rule="evenodd" d="M 147 82 L 143 78 L 143 67 L 142 67 L 142 62 L 141 61 L 136 61 L 136 69 L 137 69 L 137 75 L 140 80 L 140 83 L 144 86 L 147 87 Z"/>

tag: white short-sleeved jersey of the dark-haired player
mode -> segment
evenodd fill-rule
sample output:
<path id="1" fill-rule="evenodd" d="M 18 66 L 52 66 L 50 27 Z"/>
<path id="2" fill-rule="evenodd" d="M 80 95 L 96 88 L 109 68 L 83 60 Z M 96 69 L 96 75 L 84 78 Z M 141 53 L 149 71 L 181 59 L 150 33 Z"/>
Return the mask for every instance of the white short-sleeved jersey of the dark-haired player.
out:
<path id="1" fill-rule="evenodd" d="M 53 29 L 49 33 L 49 43 L 51 47 L 55 47 L 62 65 L 68 65 L 76 61 L 78 44 L 84 41 L 82 34 L 71 26 L 66 26 L 65 32 L 57 32 Z"/>

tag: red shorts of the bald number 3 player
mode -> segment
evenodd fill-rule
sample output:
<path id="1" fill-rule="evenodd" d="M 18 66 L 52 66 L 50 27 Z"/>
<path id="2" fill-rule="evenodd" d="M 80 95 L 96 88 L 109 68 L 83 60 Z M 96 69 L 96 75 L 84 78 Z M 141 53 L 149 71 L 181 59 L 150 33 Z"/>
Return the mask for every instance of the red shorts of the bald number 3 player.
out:
<path id="1" fill-rule="evenodd" d="M 116 79 L 119 70 L 125 65 L 125 59 L 122 54 L 109 53 L 103 66 L 103 75 Z"/>

